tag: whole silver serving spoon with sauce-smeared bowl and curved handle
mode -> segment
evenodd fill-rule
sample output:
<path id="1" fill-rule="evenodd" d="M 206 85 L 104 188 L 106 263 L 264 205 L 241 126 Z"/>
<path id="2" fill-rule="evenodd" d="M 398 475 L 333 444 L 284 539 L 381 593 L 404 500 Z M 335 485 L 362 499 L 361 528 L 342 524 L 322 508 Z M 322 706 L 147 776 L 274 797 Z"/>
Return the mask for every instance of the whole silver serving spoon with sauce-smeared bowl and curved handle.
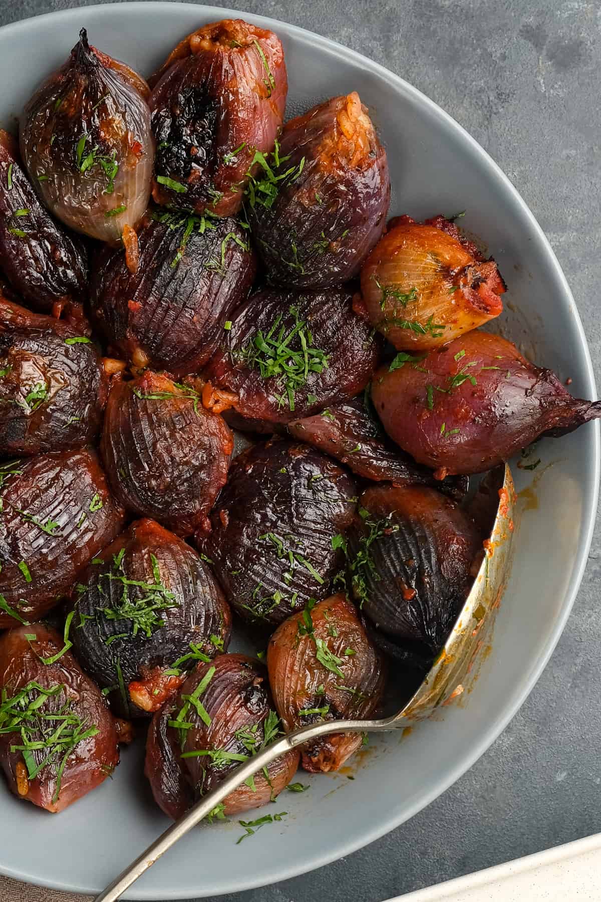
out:
<path id="1" fill-rule="evenodd" d="M 421 686 L 400 711 L 380 720 L 315 723 L 287 733 L 269 743 L 265 749 L 233 769 L 229 777 L 161 833 L 159 838 L 132 861 L 110 886 L 96 896 L 94 902 L 117 902 L 135 880 L 192 827 L 196 827 L 196 824 L 209 815 L 216 805 L 223 802 L 226 796 L 287 751 L 331 733 L 404 730 L 410 723 L 427 717 L 440 705 L 449 704 L 466 689 L 469 691 L 468 682 L 473 682 L 477 676 L 474 666 L 478 660 L 478 652 L 486 647 L 485 643 L 490 635 L 508 571 L 507 564 L 514 535 L 515 504 L 514 483 L 508 465 L 505 464 L 504 468 L 495 471 L 493 482 L 488 483 L 487 491 L 490 495 L 498 497 L 498 502 L 493 528 L 485 543 L 484 560 L 442 651 L 434 660 Z"/>

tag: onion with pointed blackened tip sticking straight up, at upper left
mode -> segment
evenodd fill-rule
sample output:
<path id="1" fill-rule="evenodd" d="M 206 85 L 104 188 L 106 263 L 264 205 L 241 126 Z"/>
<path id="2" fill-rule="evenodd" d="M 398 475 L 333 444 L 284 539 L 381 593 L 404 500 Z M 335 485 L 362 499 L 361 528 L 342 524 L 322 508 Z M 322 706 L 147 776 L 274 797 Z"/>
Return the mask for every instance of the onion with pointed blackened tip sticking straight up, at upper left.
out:
<path id="1" fill-rule="evenodd" d="M 148 207 L 148 91 L 132 69 L 89 46 L 82 28 L 70 58 L 25 106 L 25 167 L 46 207 L 77 232 L 115 244 Z"/>

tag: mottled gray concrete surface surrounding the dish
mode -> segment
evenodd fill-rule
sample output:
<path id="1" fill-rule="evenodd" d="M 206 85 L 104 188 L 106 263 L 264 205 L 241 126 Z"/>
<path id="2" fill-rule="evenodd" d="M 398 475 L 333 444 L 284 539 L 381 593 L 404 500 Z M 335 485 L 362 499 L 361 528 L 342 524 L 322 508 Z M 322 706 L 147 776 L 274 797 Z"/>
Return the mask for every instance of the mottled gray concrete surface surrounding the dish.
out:
<path id="1" fill-rule="evenodd" d="M 84 4 L 0 0 L 0 24 Z M 601 4 L 242 0 L 240 5 L 378 60 L 474 135 L 551 239 L 601 382 Z M 351 857 L 271 888 L 223 897 L 224 902 L 381 902 L 601 830 L 599 526 L 597 520 L 582 588 L 550 665 L 475 767 L 410 823 Z"/>

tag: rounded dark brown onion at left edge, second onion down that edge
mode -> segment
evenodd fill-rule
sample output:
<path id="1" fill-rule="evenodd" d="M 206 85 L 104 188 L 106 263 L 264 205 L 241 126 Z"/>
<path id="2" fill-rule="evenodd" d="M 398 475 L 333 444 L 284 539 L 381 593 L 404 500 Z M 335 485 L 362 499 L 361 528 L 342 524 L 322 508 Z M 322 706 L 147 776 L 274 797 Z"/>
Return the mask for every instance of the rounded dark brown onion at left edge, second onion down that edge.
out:
<path id="1" fill-rule="evenodd" d="M 106 394 L 105 369 L 87 336 L 0 291 L 0 455 L 86 445 L 100 428 Z"/>

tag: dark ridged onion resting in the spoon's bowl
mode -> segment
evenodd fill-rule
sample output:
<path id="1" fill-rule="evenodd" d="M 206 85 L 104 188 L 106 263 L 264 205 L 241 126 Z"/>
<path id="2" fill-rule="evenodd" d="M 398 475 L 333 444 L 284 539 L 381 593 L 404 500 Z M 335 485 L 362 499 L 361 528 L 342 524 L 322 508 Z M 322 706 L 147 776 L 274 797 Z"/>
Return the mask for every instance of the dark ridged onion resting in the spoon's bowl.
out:
<path id="1" fill-rule="evenodd" d="M 374 486 L 348 534 L 352 594 L 378 630 L 434 656 L 469 593 L 478 552 L 478 529 L 450 498 Z"/>

